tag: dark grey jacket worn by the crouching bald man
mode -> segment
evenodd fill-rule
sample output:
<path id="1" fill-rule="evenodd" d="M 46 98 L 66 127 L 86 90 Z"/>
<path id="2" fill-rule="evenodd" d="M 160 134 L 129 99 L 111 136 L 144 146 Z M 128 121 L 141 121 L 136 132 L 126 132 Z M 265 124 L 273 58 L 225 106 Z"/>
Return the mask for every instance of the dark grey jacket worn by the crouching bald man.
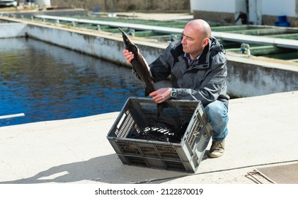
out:
<path id="1" fill-rule="evenodd" d="M 172 86 L 178 92 L 177 99 L 201 100 L 204 107 L 215 100 L 228 105 L 224 47 L 214 37 L 210 38 L 200 58 L 189 68 L 184 54 L 181 40 L 171 42 L 164 54 L 149 65 L 154 81 L 162 81 L 171 75 Z"/>

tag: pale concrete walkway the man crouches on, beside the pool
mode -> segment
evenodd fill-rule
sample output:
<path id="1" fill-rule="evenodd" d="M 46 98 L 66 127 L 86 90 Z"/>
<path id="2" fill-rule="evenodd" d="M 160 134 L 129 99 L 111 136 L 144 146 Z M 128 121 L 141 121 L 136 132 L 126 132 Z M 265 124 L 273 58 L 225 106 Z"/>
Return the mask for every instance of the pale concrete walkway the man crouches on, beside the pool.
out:
<path id="1" fill-rule="evenodd" d="M 194 174 L 123 165 L 106 138 L 119 112 L 0 127 L 0 184 L 256 183 L 255 168 L 298 161 L 297 101 L 298 91 L 230 100 L 226 153 Z"/>

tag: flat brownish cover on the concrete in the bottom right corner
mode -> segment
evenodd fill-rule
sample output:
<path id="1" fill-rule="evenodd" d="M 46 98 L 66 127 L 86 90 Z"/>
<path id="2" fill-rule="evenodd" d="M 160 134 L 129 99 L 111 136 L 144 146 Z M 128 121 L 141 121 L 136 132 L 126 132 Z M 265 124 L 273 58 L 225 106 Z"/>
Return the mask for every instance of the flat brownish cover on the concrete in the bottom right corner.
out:
<path id="1" fill-rule="evenodd" d="M 298 163 L 256 168 L 268 180 L 277 184 L 298 184 Z"/>

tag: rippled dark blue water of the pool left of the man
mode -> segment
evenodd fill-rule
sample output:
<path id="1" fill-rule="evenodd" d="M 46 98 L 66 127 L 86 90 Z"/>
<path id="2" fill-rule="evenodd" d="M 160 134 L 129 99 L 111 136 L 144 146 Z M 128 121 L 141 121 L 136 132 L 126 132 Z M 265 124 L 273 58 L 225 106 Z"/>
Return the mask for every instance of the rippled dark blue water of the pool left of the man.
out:
<path id="1" fill-rule="evenodd" d="M 158 87 L 169 86 L 168 82 Z M 144 85 L 130 69 L 25 38 L 0 39 L 0 126 L 120 111 Z"/>

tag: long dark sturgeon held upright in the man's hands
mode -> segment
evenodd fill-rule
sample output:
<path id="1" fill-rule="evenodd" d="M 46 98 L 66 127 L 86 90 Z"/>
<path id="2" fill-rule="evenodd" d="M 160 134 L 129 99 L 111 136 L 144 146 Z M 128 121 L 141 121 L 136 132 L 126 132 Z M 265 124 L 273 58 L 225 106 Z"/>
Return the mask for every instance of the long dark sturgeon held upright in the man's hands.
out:
<path id="1" fill-rule="evenodd" d="M 139 48 L 137 45 L 135 45 L 128 35 L 121 29 L 118 28 L 123 37 L 123 42 L 125 44 L 125 49 L 132 52 L 134 54 L 134 59 L 130 62 L 132 64 L 132 67 L 134 68 L 134 71 L 137 72 L 139 77 L 142 79 L 142 81 L 145 84 L 145 96 L 148 96 L 149 93 L 156 91 L 156 86 L 154 84 L 154 81 L 151 78 L 151 72 L 149 71 L 149 66 L 144 59 L 143 55 L 139 52 Z M 166 106 L 166 103 L 159 103 L 157 104 L 158 112 L 157 116 L 161 115 L 162 110 Z"/>

